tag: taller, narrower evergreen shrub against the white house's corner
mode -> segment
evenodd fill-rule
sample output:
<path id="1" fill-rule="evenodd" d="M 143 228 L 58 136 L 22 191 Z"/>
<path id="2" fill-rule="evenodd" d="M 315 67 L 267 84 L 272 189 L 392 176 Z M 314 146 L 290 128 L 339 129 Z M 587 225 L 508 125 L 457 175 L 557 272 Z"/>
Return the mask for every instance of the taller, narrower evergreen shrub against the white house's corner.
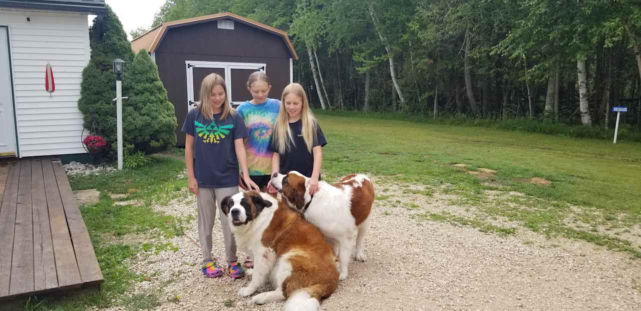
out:
<path id="1" fill-rule="evenodd" d="M 108 6 L 107 6 L 108 7 Z M 98 16 L 89 28 L 91 59 L 83 70 L 78 100 L 78 109 L 83 113 L 84 126 L 91 134 L 103 136 L 115 150 L 116 106 L 115 79 L 112 61 L 120 58 L 131 64 L 133 51 L 122 24 L 111 8 L 104 16 Z M 123 96 L 127 90 L 123 89 Z"/>

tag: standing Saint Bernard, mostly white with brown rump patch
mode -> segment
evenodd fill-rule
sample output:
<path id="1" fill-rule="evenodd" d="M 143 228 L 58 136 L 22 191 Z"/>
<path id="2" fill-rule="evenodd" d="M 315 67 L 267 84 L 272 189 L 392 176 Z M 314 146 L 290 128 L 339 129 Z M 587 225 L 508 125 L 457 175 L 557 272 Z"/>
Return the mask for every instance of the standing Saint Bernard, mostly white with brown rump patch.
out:
<path id="1" fill-rule="evenodd" d="M 367 176 L 352 174 L 333 185 L 320 181 L 319 190 L 310 196 L 308 181 L 303 174 L 290 171 L 287 175 L 274 173 L 271 184 L 282 193 L 289 207 L 301 212 L 333 243 L 340 261 L 338 278 L 345 280 L 356 229 L 355 259 L 367 260 L 363 253 L 363 237 L 369 227 L 374 185 Z"/>

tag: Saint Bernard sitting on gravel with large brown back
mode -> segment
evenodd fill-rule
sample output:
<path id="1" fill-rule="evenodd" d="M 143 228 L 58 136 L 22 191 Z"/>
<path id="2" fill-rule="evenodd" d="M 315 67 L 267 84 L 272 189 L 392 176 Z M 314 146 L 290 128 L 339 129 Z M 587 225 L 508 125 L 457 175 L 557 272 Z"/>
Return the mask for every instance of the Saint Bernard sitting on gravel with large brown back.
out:
<path id="1" fill-rule="evenodd" d="M 274 291 L 252 298 L 257 304 L 288 298 L 285 310 L 318 310 L 338 286 L 336 255 L 318 228 L 274 196 L 246 191 L 221 202 L 238 248 L 251 254 L 251 282 L 240 296 L 256 292 L 266 280 Z"/>

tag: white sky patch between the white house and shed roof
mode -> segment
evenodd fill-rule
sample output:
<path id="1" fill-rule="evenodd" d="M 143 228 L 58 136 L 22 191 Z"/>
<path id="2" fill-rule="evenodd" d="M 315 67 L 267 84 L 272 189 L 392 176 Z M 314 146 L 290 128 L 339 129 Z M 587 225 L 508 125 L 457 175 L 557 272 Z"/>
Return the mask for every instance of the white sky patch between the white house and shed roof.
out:
<path id="1" fill-rule="evenodd" d="M 122 27 L 127 33 L 129 40 L 129 31 L 140 26 L 149 27 L 154 19 L 154 14 L 158 12 L 160 6 L 165 0 L 105 0 L 112 7 L 113 12 L 121 20 Z M 88 24 L 91 26 L 96 15 L 88 16 Z"/>

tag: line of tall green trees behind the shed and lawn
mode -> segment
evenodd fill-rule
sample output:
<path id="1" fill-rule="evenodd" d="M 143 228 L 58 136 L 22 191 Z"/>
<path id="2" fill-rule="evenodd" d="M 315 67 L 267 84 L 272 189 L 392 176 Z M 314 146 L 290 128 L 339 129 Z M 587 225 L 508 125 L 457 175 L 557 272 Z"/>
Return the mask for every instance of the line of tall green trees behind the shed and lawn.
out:
<path id="1" fill-rule="evenodd" d="M 150 28 L 219 12 L 287 31 L 322 109 L 641 126 L 638 0 L 166 0 Z"/>

